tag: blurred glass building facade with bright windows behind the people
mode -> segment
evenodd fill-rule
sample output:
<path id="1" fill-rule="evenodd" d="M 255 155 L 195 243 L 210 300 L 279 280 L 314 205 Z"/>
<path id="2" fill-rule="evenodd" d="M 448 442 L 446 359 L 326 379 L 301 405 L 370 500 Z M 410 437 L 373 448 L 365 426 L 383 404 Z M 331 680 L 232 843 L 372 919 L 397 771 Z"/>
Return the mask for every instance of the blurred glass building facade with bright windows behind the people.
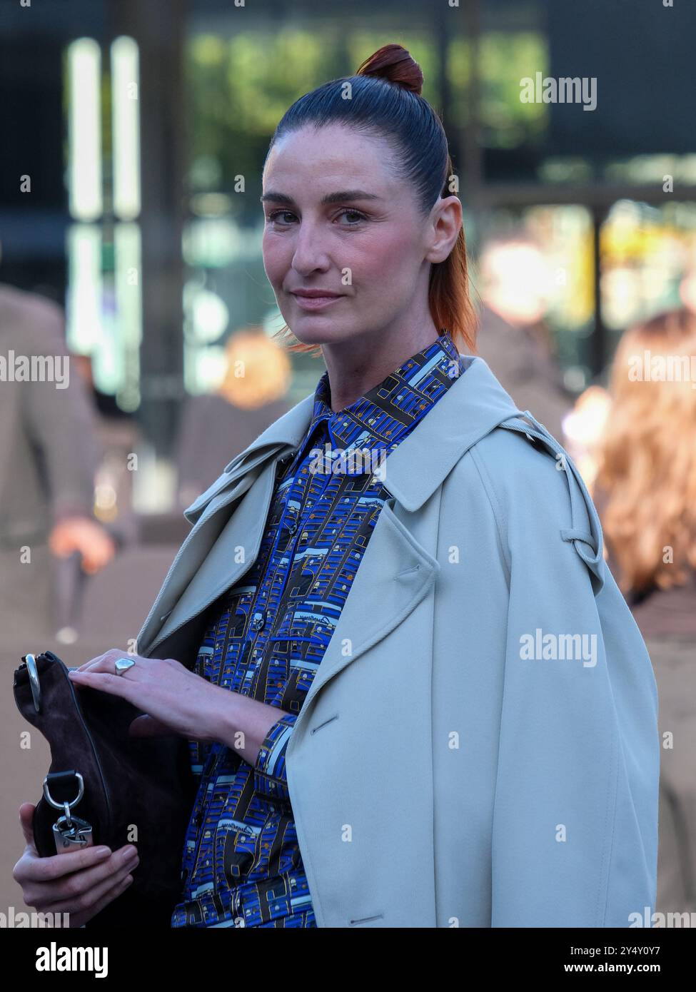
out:
<path id="1" fill-rule="evenodd" d="M 186 398 L 219 385 L 229 336 L 282 325 L 258 203 L 275 124 L 386 41 L 424 67 L 475 261 L 510 226 L 544 245 L 571 393 L 602 377 L 623 327 L 677 303 L 696 263 L 693 7 L 45 0 L 0 20 L 0 276 L 66 305 L 70 350 L 138 422 L 143 511 L 162 509 L 153 479 L 172 505 L 157 466 Z M 547 102 L 549 77 L 577 78 L 585 97 Z M 292 361 L 290 404 L 321 373 Z"/>

